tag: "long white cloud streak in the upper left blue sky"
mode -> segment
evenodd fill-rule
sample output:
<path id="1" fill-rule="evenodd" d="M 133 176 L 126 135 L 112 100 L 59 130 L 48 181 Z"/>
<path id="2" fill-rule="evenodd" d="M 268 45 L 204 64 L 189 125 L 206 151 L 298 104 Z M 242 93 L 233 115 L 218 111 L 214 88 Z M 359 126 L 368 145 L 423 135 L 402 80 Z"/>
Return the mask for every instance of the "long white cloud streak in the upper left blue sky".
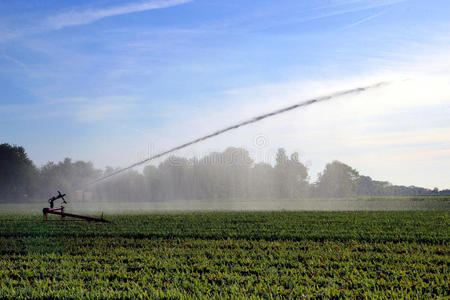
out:
<path id="1" fill-rule="evenodd" d="M 191 1 L 192 0 L 147 1 L 138 4 L 129 4 L 97 10 L 73 11 L 48 18 L 47 25 L 51 29 L 61 29 L 69 26 L 85 25 L 113 16 L 177 6 Z"/>

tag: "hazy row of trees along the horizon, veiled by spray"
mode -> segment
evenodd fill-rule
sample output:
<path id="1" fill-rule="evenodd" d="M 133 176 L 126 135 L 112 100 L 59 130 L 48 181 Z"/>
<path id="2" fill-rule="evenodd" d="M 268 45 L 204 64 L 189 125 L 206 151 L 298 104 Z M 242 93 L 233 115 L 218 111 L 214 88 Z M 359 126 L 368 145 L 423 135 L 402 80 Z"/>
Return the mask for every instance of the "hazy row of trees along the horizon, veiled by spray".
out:
<path id="1" fill-rule="evenodd" d="M 450 190 L 376 181 L 339 161 L 327 164 L 317 180 L 310 182 L 308 168 L 298 153 L 288 155 L 283 148 L 278 150 L 274 165 L 255 163 L 246 149 L 229 147 L 201 158 L 170 156 L 142 172 L 130 170 L 86 186 L 116 170 L 99 170 L 91 162 L 73 162 L 70 158 L 38 168 L 23 147 L 0 144 L 0 201 L 42 200 L 56 190 L 85 201 L 130 202 L 450 194 Z"/>

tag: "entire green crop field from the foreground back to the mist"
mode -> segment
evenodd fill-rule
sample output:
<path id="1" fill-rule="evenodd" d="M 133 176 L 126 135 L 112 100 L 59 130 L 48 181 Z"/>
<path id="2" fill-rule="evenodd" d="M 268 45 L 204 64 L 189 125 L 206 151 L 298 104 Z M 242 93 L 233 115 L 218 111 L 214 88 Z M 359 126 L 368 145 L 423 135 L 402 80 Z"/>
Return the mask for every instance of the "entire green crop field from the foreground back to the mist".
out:
<path id="1" fill-rule="evenodd" d="M 0 298 L 450 297 L 449 212 L 0 215 Z"/>

